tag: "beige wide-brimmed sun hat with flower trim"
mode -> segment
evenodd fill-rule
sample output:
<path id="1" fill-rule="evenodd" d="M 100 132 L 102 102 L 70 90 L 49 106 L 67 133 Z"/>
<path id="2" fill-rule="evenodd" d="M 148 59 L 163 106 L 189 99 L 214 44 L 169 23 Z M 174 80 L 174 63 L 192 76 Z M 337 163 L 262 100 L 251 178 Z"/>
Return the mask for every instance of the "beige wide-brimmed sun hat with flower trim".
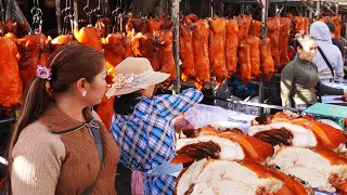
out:
<path id="1" fill-rule="evenodd" d="M 106 98 L 132 93 L 140 89 L 165 81 L 170 75 L 154 72 L 147 58 L 127 57 L 115 68 L 116 76 L 113 79 Z"/>

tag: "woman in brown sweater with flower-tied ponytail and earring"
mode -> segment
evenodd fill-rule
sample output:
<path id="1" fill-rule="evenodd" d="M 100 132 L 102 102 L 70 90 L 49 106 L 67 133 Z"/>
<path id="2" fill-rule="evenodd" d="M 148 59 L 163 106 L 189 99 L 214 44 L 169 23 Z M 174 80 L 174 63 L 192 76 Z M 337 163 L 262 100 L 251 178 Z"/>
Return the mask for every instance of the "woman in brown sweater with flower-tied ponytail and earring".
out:
<path id="1" fill-rule="evenodd" d="M 9 147 L 12 194 L 116 194 L 119 150 L 91 109 L 105 77 L 103 54 L 81 44 L 38 65 Z"/>

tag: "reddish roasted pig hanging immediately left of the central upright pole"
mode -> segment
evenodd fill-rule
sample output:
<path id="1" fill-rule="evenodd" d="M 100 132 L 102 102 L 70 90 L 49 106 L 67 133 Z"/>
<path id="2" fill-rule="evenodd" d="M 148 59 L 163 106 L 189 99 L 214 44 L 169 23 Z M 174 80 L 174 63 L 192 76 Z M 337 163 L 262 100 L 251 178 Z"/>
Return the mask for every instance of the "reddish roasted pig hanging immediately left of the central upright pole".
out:
<path id="1" fill-rule="evenodd" d="M 163 83 L 164 89 L 172 86 L 177 79 L 176 63 L 174 58 L 174 32 L 163 30 L 158 37 L 160 72 L 170 74 L 170 77 Z"/>

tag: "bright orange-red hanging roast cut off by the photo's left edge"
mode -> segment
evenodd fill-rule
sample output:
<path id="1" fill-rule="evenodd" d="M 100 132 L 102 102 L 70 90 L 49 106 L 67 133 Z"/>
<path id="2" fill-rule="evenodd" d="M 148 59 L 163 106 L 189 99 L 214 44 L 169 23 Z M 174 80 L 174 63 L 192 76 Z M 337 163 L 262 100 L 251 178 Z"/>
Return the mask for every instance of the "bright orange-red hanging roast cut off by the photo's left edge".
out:
<path id="1" fill-rule="evenodd" d="M 4 107 L 22 104 L 23 83 L 16 60 L 17 47 L 11 38 L 0 37 L 0 105 Z"/>

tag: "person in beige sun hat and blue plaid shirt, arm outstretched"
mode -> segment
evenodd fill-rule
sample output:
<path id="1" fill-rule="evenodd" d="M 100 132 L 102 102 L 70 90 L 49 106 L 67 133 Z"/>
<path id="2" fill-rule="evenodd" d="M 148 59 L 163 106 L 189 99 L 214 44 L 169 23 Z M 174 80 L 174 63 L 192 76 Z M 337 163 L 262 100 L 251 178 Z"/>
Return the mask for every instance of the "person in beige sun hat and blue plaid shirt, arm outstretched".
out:
<path id="1" fill-rule="evenodd" d="M 169 75 L 154 72 L 149 60 L 128 57 L 116 66 L 116 95 L 111 132 L 120 147 L 120 162 L 132 170 L 132 194 L 174 194 L 182 165 L 170 165 L 176 155 L 172 119 L 203 99 L 195 89 L 153 96 L 155 84 Z"/>

